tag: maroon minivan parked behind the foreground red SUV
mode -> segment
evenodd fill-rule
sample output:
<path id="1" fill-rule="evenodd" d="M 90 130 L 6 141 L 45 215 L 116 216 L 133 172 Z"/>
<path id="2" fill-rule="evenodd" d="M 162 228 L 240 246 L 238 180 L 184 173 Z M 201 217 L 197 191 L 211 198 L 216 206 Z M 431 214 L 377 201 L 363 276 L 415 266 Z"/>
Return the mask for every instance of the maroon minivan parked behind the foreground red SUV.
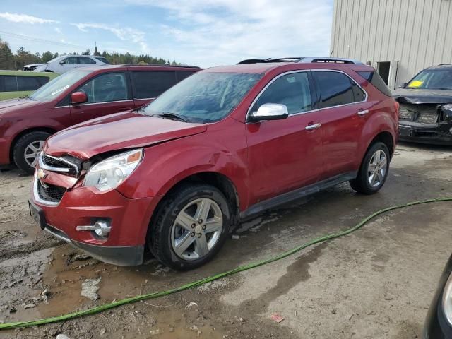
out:
<path id="1" fill-rule="evenodd" d="M 102 66 L 75 69 L 28 97 L 0 102 L 0 165 L 35 170 L 53 133 L 103 115 L 140 107 L 198 71 L 178 66 Z"/>

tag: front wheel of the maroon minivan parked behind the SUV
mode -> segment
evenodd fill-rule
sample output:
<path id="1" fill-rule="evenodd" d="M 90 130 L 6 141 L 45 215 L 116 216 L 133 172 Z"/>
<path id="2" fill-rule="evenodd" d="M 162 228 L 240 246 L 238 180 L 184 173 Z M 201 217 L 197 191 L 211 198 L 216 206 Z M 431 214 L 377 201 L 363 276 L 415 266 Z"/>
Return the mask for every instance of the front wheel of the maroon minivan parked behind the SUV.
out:
<path id="1" fill-rule="evenodd" d="M 35 172 L 37 159 L 42 146 L 50 133 L 35 131 L 21 136 L 13 148 L 13 160 L 19 169 L 28 174 Z"/>

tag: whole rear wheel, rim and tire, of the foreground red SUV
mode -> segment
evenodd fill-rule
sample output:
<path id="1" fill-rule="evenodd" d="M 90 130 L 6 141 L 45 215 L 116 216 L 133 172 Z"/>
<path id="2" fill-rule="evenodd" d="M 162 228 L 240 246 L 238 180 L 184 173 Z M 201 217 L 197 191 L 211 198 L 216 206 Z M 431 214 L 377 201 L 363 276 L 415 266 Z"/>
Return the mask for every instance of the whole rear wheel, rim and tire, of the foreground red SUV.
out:
<path id="1" fill-rule="evenodd" d="M 364 156 L 357 178 L 350 180 L 352 189 L 362 194 L 378 192 L 388 177 L 390 159 L 388 147 L 384 143 L 371 145 Z"/>

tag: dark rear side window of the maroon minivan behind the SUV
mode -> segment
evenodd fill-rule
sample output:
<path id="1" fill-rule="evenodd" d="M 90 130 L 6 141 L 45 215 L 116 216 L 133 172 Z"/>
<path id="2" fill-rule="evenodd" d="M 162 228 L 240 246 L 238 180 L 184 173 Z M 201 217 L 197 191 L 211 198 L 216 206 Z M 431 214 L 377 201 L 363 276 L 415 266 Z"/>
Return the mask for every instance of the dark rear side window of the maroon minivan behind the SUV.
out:
<path id="1" fill-rule="evenodd" d="M 174 71 L 132 71 L 134 99 L 152 99 L 177 83 Z"/>

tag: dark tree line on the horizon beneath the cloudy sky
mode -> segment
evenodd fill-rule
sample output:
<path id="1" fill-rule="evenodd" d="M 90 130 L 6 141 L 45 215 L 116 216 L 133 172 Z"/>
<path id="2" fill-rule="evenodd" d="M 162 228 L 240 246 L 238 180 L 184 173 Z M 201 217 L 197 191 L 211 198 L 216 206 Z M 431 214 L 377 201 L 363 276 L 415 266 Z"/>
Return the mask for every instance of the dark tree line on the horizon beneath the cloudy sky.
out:
<path id="1" fill-rule="evenodd" d="M 84 52 L 70 52 L 58 54 L 52 53 L 50 51 L 36 52 L 32 54 L 30 51 L 27 51 L 24 47 L 19 47 L 16 53 L 11 51 L 8 42 L 1 40 L 0 38 L 0 69 L 9 69 L 9 70 L 18 70 L 23 69 L 24 65 L 27 64 L 40 64 L 46 63 L 56 57 L 61 55 L 91 55 L 90 49 L 86 49 Z M 109 61 L 110 64 L 171 64 L 171 65 L 179 65 L 176 61 L 169 61 L 162 58 L 151 57 L 149 54 L 140 54 L 133 55 L 129 52 L 126 53 L 109 53 L 102 52 L 100 53 L 95 47 L 93 55 L 98 55 L 105 57 Z"/>

